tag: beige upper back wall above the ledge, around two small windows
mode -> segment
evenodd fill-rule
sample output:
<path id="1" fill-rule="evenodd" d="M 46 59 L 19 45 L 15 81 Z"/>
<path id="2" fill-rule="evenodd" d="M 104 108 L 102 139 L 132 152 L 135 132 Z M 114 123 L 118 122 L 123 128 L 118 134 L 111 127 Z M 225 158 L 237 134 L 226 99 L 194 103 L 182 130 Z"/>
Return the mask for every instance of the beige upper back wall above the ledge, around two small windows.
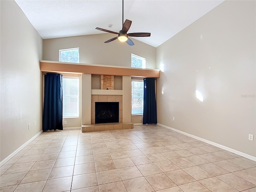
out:
<path id="1" fill-rule="evenodd" d="M 79 47 L 80 63 L 130 67 L 133 53 L 146 58 L 146 68 L 156 68 L 156 48 L 135 39 L 134 46 L 118 40 L 104 43 L 114 36 L 104 33 L 46 39 L 43 41 L 43 60 L 58 61 L 60 49 Z"/>

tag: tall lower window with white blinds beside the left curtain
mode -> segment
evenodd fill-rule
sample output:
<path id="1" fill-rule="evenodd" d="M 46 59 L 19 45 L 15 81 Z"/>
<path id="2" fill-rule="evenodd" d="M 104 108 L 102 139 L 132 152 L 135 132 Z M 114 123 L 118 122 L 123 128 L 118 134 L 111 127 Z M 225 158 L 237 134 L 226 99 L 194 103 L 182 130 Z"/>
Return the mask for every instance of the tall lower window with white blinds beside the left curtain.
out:
<path id="1" fill-rule="evenodd" d="M 79 78 L 62 76 L 63 118 L 79 117 Z"/>

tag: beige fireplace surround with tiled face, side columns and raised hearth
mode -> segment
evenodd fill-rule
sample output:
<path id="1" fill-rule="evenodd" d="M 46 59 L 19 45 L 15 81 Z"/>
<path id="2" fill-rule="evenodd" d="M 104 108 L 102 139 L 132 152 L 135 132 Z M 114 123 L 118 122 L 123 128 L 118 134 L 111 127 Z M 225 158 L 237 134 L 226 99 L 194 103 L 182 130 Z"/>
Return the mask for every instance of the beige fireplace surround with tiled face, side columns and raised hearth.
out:
<path id="1" fill-rule="evenodd" d="M 90 74 L 82 75 L 82 84 L 84 82 L 85 90 L 82 95 L 82 132 L 104 131 L 104 130 L 120 130 L 132 129 L 131 122 L 131 77 L 122 76 L 122 90 L 95 90 L 90 87 Z M 90 90 L 88 92 L 86 90 Z M 104 123 L 95 124 L 95 102 L 119 102 L 119 122 L 118 123 Z"/>

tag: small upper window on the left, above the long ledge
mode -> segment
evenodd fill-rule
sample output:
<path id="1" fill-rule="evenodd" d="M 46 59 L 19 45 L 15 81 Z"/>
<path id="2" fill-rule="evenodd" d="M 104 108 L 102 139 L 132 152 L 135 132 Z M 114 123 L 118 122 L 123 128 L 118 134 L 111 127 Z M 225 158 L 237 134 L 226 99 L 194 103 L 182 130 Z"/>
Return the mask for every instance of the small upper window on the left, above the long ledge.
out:
<path id="1" fill-rule="evenodd" d="M 79 48 L 59 50 L 59 61 L 79 63 Z"/>

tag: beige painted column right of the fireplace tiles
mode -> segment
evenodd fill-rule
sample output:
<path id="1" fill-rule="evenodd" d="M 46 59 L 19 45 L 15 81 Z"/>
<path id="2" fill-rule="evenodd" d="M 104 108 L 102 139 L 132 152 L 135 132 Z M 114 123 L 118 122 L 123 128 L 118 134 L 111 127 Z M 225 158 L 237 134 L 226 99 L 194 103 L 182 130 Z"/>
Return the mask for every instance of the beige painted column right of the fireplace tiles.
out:
<path id="1" fill-rule="evenodd" d="M 123 76 L 123 123 L 131 122 L 132 116 L 132 78 L 130 76 Z"/>

